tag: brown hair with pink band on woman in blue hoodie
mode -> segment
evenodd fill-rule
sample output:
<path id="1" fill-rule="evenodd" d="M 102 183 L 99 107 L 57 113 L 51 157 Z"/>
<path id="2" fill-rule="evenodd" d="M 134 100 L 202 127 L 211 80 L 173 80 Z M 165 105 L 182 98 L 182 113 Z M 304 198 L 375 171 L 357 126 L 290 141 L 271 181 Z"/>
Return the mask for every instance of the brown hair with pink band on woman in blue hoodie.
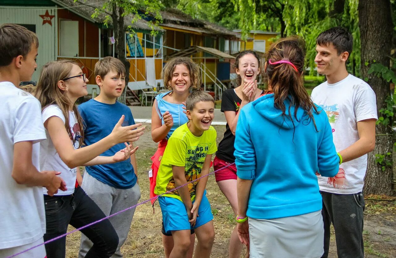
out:
<path id="1" fill-rule="evenodd" d="M 274 93 L 274 106 L 282 111 L 284 119 L 291 120 L 291 106 L 295 107 L 294 117 L 297 119 L 297 110 L 301 107 L 305 110 L 307 120 L 312 119 L 315 129 L 318 131 L 312 112 L 319 112 L 304 88 L 304 48 L 305 42 L 299 36 L 289 36 L 276 41 L 265 53 L 267 67 L 264 70 L 264 78 L 268 83 L 269 89 Z M 287 60 L 295 65 L 297 71 L 287 63 L 270 64 L 268 62 L 269 59 L 271 59 L 272 63 Z M 286 115 L 284 103 L 286 99 L 290 101 L 290 116 Z"/>

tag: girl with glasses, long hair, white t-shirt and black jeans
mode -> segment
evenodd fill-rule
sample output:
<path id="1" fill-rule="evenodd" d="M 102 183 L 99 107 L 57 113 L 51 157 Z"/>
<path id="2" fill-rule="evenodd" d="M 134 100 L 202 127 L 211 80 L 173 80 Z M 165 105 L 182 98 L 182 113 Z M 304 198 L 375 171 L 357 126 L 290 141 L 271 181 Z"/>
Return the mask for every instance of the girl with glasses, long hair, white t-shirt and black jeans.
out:
<path id="1" fill-rule="evenodd" d="M 83 121 L 75 102 L 88 94 L 88 80 L 74 61 L 62 59 L 43 66 L 38 80 L 36 98 L 42 106 L 42 119 L 47 139 L 40 143 L 42 169 L 60 171 L 67 190 L 53 196 L 44 190 L 46 234 L 44 241 L 67 232 L 68 225 L 80 228 L 105 217 L 101 209 L 77 185 L 82 178 L 78 166 L 115 163 L 129 159 L 136 151 L 126 142 L 133 142 L 143 134 L 141 124 L 122 127 L 124 116 L 112 133 L 95 144 L 80 148 L 84 138 Z M 125 142 L 126 148 L 114 156 L 98 156 L 111 146 Z M 107 258 L 118 246 L 118 236 L 109 220 L 103 220 L 81 230 L 93 246 L 85 257 Z M 48 258 L 65 257 L 66 238 L 45 245 Z"/>

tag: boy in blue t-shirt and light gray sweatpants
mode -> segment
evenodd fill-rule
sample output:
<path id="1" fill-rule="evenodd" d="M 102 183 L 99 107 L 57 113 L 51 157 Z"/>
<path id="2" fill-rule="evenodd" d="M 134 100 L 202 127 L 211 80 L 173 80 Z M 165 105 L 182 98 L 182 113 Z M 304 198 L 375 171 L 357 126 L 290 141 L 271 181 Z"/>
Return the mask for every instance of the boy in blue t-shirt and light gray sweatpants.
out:
<path id="1" fill-rule="evenodd" d="M 86 145 L 93 144 L 109 135 L 122 115 L 125 116 L 123 126 L 135 124 L 128 106 L 116 100 L 125 88 L 124 64 L 114 57 L 105 57 L 96 63 L 94 72 L 96 83 L 100 87 L 100 94 L 78 107 L 84 120 Z M 114 145 L 101 156 L 112 156 L 123 148 L 125 148 L 124 144 Z M 137 148 L 131 151 L 130 161 L 86 167 L 87 173 L 84 174 L 82 188 L 106 216 L 136 205 L 140 199 L 136 157 L 133 154 Z M 120 247 L 126 240 L 134 212 L 135 209 L 130 209 L 109 219 L 120 239 L 114 256 L 122 257 Z M 91 246 L 92 242 L 82 234 L 78 257 L 85 257 Z"/>

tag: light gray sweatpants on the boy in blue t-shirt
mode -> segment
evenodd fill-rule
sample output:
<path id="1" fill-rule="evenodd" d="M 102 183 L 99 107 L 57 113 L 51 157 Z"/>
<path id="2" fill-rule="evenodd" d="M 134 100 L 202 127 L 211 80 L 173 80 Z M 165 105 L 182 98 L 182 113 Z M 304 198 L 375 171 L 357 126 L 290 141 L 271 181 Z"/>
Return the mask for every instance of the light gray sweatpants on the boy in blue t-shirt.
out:
<path id="1" fill-rule="evenodd" d="M 88 173 L 84 173 L 82 188 L 88 196 L 95 201 L 106 216 L 136 205 L 141 196 L 138 184 L 135 184 L 135 186 L 129 189 L 117 189 L 102 183 Z M 118 238 L 120 239 L 117 251 L 113 256 L 111 256 L 112 258 L 123 257 L 120 252 L 120 247 L 124 244 L 126 237 L 128 236 L 134 213 L 135 209 L 130 209 L 109 218 L 114 229 L 117 231 Z M 78 253 L 78 257 L 85 257 L 91 247 L 92 242 L 84 234 L 81 234 L 80 252 Z"/>

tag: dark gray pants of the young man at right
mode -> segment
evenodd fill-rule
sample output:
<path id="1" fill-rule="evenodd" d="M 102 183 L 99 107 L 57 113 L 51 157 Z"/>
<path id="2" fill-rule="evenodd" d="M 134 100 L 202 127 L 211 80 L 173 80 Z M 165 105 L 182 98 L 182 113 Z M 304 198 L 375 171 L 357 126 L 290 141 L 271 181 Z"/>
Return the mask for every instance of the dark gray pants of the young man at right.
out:
<path id="1" fill-rule="evenodd" d="M 339 258 L 363 258 L 363 193 L 332 194 L 322 192 L 324 224 L 324 254 L 329 255 L 330 224 L 335 230 L 335 243 Z"/>

